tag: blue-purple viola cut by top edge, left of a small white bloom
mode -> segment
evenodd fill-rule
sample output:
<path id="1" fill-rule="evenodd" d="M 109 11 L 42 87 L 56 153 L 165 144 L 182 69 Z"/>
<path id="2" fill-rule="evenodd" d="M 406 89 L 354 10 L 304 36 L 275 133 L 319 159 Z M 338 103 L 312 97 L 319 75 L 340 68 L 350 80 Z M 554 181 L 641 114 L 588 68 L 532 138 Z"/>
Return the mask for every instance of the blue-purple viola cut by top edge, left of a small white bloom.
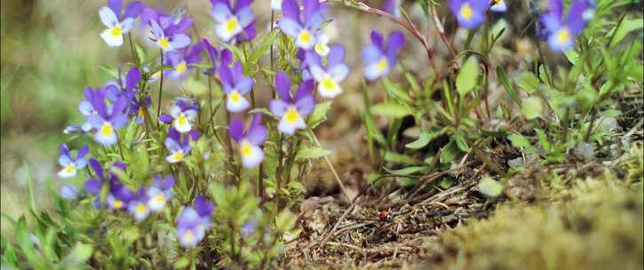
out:
<path id="1" fill-rule="evenodd" d="M 449 9 L 463 28 L 478 28 L 485 21 L 488 8 L 489 1 L 485 0 L 449 0 Z"/>

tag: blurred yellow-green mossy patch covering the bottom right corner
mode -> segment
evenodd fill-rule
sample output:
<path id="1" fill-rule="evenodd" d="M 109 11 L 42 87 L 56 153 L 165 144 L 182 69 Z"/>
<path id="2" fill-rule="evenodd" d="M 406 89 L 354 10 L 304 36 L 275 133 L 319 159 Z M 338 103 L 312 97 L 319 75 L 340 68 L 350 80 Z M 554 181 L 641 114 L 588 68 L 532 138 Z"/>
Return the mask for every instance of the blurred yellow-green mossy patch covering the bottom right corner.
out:
<path id="1" fill-rule="evenodd" d="M 641 145 L 614 164 L 539 174 L 533 200 L 514 198 L 487 219 L 441 234 L 421 267 L 641 269 Z"/>

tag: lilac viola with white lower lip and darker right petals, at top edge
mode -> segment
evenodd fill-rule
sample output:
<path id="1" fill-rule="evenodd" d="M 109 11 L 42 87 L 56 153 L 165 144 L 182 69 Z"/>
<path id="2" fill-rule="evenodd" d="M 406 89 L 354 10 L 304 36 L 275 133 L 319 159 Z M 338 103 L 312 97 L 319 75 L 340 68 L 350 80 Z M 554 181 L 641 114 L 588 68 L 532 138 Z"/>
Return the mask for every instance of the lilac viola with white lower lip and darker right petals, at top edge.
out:
<path id="1" fill-rule="evenodd" d="M 255 19 L 250 4 L 252 0 L 237 0 L 235 7 L 230 0 L 211 0 L 212 18 L 217 21 L 215 33 L 225 42 L 233 39 L 247 41 L 255 38 Z"/>

